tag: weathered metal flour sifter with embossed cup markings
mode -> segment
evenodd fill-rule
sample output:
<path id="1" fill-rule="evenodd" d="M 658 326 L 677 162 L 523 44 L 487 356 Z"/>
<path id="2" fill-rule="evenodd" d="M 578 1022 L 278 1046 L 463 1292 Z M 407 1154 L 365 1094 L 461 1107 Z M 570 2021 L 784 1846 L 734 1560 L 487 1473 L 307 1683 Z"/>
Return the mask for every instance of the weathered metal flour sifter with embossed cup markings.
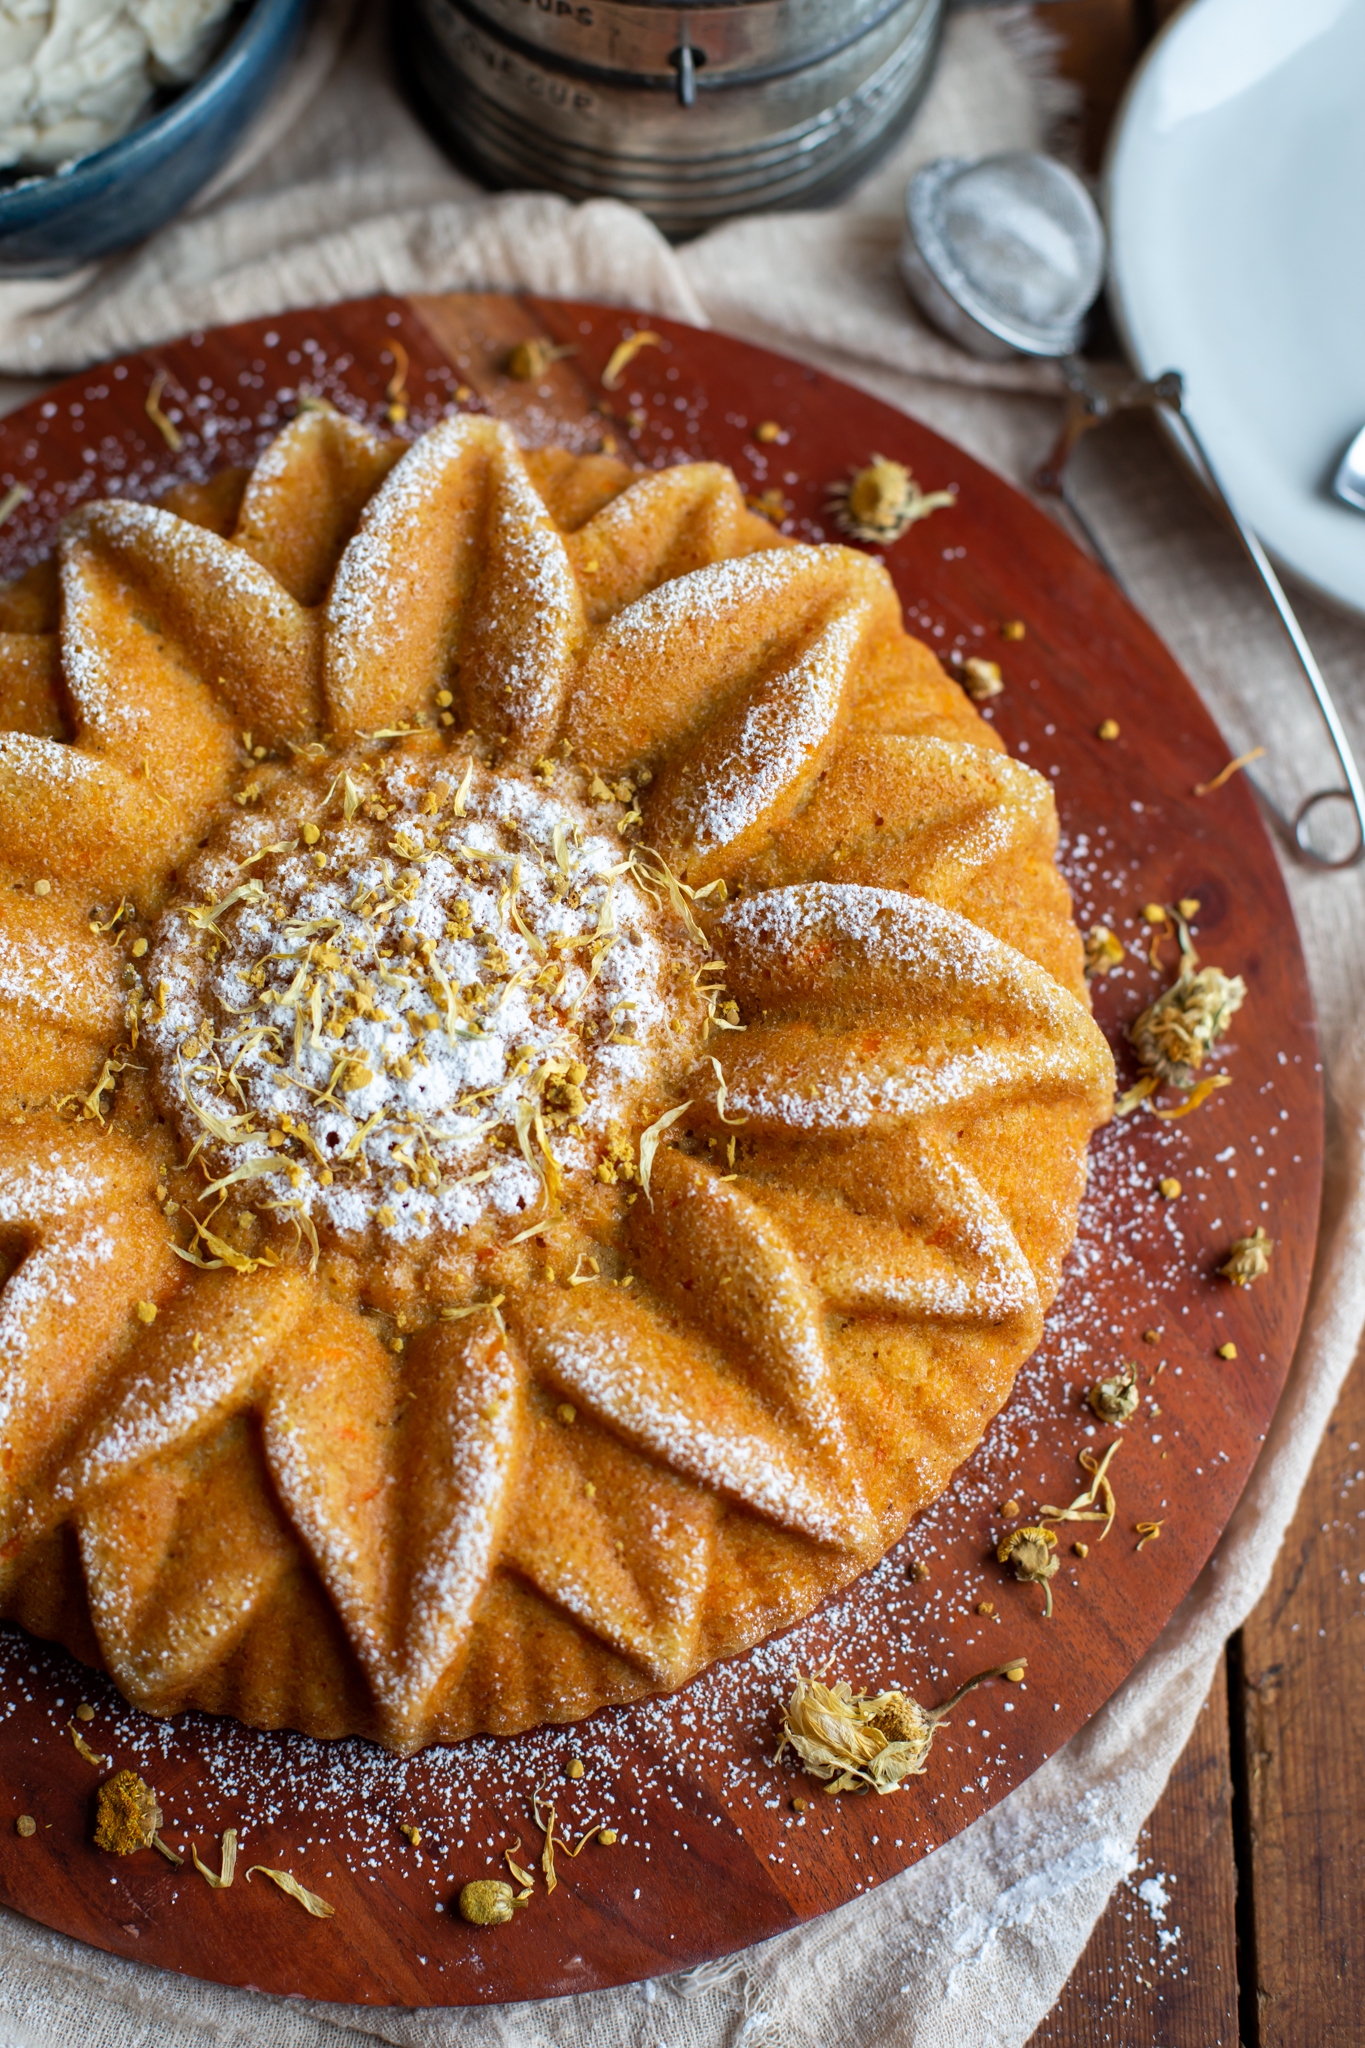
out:
<path id="1" fill-rule="evenodd" d="M 945 0 L 405 0 L 399 63 L 481 180 L 606 195 L 671 236 L 835 199 L 890 147 Z"/>

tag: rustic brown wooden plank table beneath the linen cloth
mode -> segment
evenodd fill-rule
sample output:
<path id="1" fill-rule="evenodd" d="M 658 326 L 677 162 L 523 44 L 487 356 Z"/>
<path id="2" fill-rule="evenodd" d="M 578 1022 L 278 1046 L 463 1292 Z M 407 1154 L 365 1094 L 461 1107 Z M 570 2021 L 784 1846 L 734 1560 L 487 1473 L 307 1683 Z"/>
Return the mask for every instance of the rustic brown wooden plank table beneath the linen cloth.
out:
<path id="1" fill-rule="evenodd" d="M 1177 0 L 1054 0 L 1095 166 Z M 1029 2048 L 1365 2044 L 1365 1352 L 1275 1577 Z"/>

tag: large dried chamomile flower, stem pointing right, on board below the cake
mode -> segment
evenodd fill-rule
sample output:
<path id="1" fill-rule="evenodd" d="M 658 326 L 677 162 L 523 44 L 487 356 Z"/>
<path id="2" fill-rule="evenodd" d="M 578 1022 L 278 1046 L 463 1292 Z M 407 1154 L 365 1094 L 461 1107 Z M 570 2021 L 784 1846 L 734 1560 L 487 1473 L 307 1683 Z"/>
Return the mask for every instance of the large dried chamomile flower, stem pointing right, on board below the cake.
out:
<path id="1" fill-rule="evenodd" d="M 1021 1663 L 1021 1657 L 1011 1657 L 1009 1669 Z M 980 1671 L 933 1708 L 902 1692 L 855 1694 L 847 1679 L 827 1686 L 819 1677 L 798 1677 L 782 1714 L 778 1757 L 790 1743 L 802 1769 L 831 1780 L 827 1792 L 896 1792 L 905 1778 L 923 1776 L 939 1720 L 974 1686 L 1003 1677 L 1005 1669 Z"/>

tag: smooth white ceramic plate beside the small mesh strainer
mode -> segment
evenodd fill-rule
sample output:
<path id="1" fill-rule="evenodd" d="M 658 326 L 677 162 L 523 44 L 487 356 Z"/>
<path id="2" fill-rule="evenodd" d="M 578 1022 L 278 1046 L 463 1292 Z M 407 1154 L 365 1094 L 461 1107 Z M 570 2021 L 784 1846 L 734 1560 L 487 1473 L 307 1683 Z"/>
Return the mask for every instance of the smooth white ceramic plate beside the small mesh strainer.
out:
<path id="1" fill-rule="evenodd" d="M 1144 377 L 1179 369 L 1240 514 L 1365 616 L 1365 0 L 1193 0 L 1132 82 L 1105 168 L 1109 287 Z"/>

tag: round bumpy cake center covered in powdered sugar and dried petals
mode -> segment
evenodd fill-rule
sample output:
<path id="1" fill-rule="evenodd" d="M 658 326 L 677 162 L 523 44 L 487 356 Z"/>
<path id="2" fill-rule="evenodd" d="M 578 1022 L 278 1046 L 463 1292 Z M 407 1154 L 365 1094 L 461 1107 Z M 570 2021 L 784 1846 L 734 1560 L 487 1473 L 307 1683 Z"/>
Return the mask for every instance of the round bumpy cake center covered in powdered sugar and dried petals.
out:
<path id="1" fill-rule="evenodd" d="M 628 1171 L 704 1034 L 706 950 L 581 780 L 356 754 L 280 776 L 209 846 L 145 1028 L 203 1229 L 221 1202 L 313 1243 L 505 1237 Z"/>

